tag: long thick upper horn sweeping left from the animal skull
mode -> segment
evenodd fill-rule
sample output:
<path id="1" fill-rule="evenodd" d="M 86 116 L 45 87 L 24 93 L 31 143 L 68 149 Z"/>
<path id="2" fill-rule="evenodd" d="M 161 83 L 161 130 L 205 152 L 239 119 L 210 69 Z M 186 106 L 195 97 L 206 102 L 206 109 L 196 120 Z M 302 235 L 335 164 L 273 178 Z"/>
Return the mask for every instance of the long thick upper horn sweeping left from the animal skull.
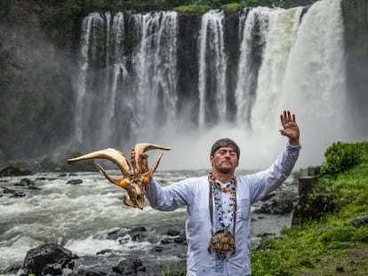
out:
<path id="1" fill-rule="evenodd" d="M 129 177 L 129 170 L 131 170 L 131 165 L 129 164 L 125 155 L 120 151 L 116 151 L 116 149 L 114 148 L 102 149 L 100 151 L 92 152 L 90 154 L 84 154 L 76 158 L 71 158 L 71 159 L 68 159 L 68 163 L 78 162 L 78 161 L 88 160 L 88 159 L 97 159 L 97 158 L 108 159 L 109 161 L 116 163 L 117 167 L 119 167 L 124 177 Z M 101 169 L 101 167 L 99 168 Z M 101 171 L 102 173 L 104 172 L 103 169 Z M 110 179 L 108 180 L 111 181 Z"/>

